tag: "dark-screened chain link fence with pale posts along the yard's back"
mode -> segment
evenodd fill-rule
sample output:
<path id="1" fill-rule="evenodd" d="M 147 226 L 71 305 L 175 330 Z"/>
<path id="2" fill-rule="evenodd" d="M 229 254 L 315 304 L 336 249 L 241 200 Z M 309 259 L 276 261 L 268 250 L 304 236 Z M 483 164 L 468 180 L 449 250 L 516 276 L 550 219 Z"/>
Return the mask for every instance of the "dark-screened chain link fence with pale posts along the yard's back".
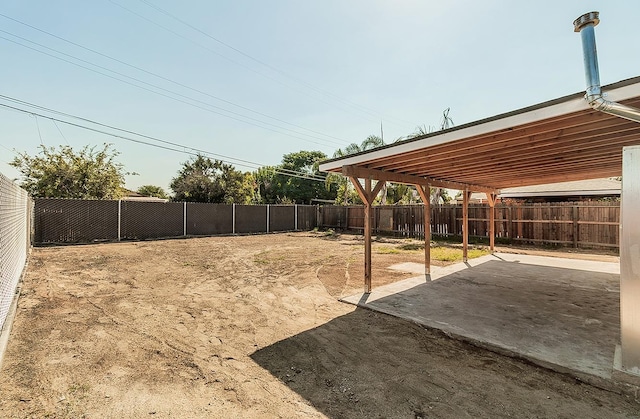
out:
<path id="1" fill-rule="evenodd" d="M 314 205 L 35 200 L 35 243 L 93 243 L 312 230 Z"/>

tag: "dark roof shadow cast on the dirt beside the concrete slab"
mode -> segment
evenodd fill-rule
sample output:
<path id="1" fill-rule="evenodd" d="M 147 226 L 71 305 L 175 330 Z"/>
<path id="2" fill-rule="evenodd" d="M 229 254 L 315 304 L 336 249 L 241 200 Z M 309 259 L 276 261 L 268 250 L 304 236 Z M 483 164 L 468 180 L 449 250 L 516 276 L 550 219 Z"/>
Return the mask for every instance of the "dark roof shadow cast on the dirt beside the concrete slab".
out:
<path id="1" fill-rule="evenodd" d="M 330 418 L 553 417 L 581 397 L 568 376 L 367 309 L 251 358 Z"/>

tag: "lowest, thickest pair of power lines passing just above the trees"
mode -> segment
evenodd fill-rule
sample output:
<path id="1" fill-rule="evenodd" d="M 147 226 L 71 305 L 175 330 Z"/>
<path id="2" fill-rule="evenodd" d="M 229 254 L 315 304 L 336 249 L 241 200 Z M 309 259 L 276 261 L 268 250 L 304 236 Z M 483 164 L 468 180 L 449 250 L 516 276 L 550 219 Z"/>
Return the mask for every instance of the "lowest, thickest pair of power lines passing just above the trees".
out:
<path id="1" fill-rule="evenodd" d="M 159 148 L 159 149 L 164 149 L 164 150 L 169 150 L 169 151 L 173 151 L 173 152 L 178 152 L 178 153 L 183 153 L 183 154 L 188 154 L 188 155 L 198 155 L 198 154 L 207 155 L 207 156 L 214 157 L 217 160 L 220 160 L 220 161 L 222 161 L 224 163 L 234 164 L 234 165 L 238 165 L 238 166 L 242 166 L 242 167 L 247 167 L 247 168 L 250 168 L 250 169 L 259 169 L 261 167 L 267 166 L 267 165 L 263 165 L 263 164 L 260 164 L 260 163 L 255 163 L 255 162 L 252 162 L 252 161 L 249 161 L 249 160 L 244 160 L 244 159 L 239 159 L 239 158 L 235 158 L 235 157 L 225 156 L 225 155 L 218 154 L 218 153 L 213 153 L 213 152 L 210 152 L 210 151 L 207 151 L 207 150 L 202 150 L 202 149 L 190 147 L 190 146 L 185 145 L 185 144 L 180 144 L 180 143 L 173 142 L 173 141 L 167 141 L 167 140 L 163 140 L 163 139 L 160 139 L 160 138 L 157 138 L 157 137 L 153 137 L 153 136 L 149 136 L 149 135 L 145 135 L 145 134 L 140 134 L 140 133 L 135 132 L 135 131 L 126 130 L 126 129 L 123 129 L 123 128 L 118 128 L 118 127 L 115 127 L 115 126 L 112 126 L 112 125 L 108 125 L 108 124 L 103 124 L 101 122 L 93 121 L 93 120 L 90 120 L 90 119 L 87 119 L 87 118 L 82 118 L 82 117 L 75 116 L 75 115 L 72 115 L 72 114 L 68 114 L 68 113 L 65 113 L 65 112 L 49 109 L 49 108 L 46 108 L 44 106 L 31 104 L 29 102 L 22 101 L 20 99 L 15 99 L 15 98 L 12 98 L 10 96 L 0 95 L 0 98 L 2 98 L 4 100 L 7 100 L 7 101 L 10 101 L 10 102 L 13 102 L 13 103 L 19 103 L 19 104 L 22 104 L 22 105 L 26 105 L 26 106 L 32 107 L 34 109 L 39 109 L 41 111 L 47 111 L 47 112 L 51 112 L 53 114 L 62 115 L 62 116 L 68 117 L 68 118 L 77 119 L 77 120 L 80 120 L 80 121 L 83 121 L 83 122 L 86 122 L 86 123 L 94 124 L 94 125 L 99 126 L 99 127 L 113 129 L 115 131 L 120 131 L 120 132 L 124 132 L 124 133 L 128 133 L 128 134 L 132 134 L 132 135 L 135 135 L 135 136 L 138 136 L 138 137 L 141 137 L 141 138 L 146 138 L 146 139 L 155 141 L 156 143 L 152 143 L 152 142 L 144 141 L 144 140 L 139 140 L 139 139 L 136 139 L 136 138 L 131 138 L 129 136 L 116 134 L 116 133 L 113 133 L 113 132 L 108 132 L 108 131 L 105 131 L 104 129 L 92 128 L 92 127 L 87 126 L 87 125 L 83 125 L 83 124 L 80 124 L 80 123 L 74 123 L 74 122 L 63 120 L 63 119 L 55 118 L 55 117 L 52 117 L 50 115 L 45 115 L 43 113 L 35 112 L 33 110 L 19 108 L 17 106 L 11 106 L 11 105 L 7 105 L 7 104 L 4 104 L 4 103 L 0 103 L 0 106 L 4 107 L 6 109 L 9 109 L 9 110 L 12 110 L 12 111 L 22 112 L 24 114 L 35 116 L 35 117 L 41 117 L 41 118 L 44 118 L 44 119 L 48 119 L 48 120 L 54 121 L 54 123 L 55 122 L 60 122 L 62 124 L 66 124 L 66 125 L 73 126 L 73 127 L 76 127 L 76 128 L 81 128 L 81 129 L 92 131 L 92 132 L 96 132 L 96 133 L 99 133 L 99 134 L 108 135 L 108 136 L 111 136 L 111 137 L 114 137 L 114 138 L 120 138 L 120 139 L 123 139 L 123 140 L 126 140 L 126 141 L 130 141 L 130 142 L 134 142 L 134 143 L 137 143 L 137 144 L 147 145 L 147 146 L 151 146 L 151 147 L 155 147 L 155 148 Z M 157 143 L 159 143 L 159 144 L 157 144 Z M 268 167 L 272 167 L 272 166 L 268 166 Z M 283 168 L 277 168 L 276 169 L 276 168 L 274 168 L 274 172 L 276 174 L 281 174 L 281 175 L 284 175 L 284 176 L 297 177 L 297 178 L 302 178 L 302 179 L 309 179 L 309 180 L 314 180 L 314 181 L 319 181 L 319 182 L 325 182 L 326 181 L 326 179 L 324 177 L 322 177 L 322 176 L 316 176 L 315 174 L 308 174 L 308 173 L 289 170 L 289 169 L 283 169 Z"/>

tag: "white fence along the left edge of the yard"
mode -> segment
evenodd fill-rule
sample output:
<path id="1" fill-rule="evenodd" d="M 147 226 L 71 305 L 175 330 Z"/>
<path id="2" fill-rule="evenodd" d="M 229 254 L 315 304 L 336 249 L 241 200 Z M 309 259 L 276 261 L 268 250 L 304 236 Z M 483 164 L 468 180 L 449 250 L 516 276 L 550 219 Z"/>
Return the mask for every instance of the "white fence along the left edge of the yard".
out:
<path id="1" fill-rule="evenodd" d="M 27 192 L 0 173 L 0 330 L 31 247 L 32 213 Z"/>

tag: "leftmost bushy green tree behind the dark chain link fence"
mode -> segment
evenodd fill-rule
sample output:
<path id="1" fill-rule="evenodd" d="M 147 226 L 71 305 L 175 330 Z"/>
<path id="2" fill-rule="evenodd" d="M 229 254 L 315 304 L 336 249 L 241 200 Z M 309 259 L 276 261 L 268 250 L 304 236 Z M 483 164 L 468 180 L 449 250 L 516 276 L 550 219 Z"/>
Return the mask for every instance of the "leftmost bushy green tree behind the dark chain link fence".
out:
<path id="1" fill-rule="evenodd" d="M 111 144 L 40 146 L 36 156 L 19 153 L 11 163 L 22 175 L 21 186 L 36 198 L 118 199 L 124 187 L 124 166 L 116 162 Z"/>

